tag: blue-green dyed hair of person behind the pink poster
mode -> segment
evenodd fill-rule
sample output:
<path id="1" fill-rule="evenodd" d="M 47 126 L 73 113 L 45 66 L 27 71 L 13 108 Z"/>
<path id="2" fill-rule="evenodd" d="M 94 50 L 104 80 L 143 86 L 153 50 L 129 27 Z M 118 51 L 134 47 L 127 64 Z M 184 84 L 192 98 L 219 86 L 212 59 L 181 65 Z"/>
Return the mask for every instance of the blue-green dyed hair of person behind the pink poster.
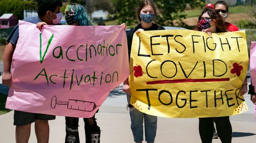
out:
<path id="1" fill-rule="evenodd" d="M 69 4 L 65 9 L 66 12 L 75 12 L 74 21 L 79 25 L 93 25 L 92 20 L 89 18 L 87 11 L 80 4 Z"/>

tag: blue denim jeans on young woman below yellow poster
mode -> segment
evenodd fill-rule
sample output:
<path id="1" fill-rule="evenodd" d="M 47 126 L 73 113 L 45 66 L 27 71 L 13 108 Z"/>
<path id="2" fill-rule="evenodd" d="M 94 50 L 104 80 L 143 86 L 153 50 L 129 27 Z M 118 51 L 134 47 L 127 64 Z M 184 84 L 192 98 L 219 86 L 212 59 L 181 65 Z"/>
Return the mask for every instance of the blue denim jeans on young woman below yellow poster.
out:
<path id="1" fill-rule="evenodd" d="M 127 101 L 130 103 L 131 96 L 127 95 Z M 145 126 L 145 140 L 147 142 L 154 142 L 157 133 L 157 117 L 152 115 L 147 115 L 135 107 L 130 109 L 131 117 L 131 129 L 133 132 L 133 137 L 135 142 L 143 141 L 143 119 Z"/>

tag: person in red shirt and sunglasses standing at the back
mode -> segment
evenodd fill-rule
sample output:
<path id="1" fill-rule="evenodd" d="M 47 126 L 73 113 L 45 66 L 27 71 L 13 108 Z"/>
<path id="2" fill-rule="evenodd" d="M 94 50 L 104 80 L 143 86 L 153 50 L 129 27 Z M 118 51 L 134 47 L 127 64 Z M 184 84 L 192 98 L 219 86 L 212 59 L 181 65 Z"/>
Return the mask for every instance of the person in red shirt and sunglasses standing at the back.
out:
<path id="1" fill-rule="evenodd" d="M 224 21 L 225 21 L 225 25 L 227 27 L 227 31 L 229 32 L 233 32 L 233 31 L 239 31 L 239 28 L 232 24 L 232 23 L 229 23 L 229 22 L 226 22 L 226 19 L 228 17 L 228 5 L 226 2 L 224 1 L 218 1 L 216 2 L 215 4 L 215 10 L 224 18 Z"/>

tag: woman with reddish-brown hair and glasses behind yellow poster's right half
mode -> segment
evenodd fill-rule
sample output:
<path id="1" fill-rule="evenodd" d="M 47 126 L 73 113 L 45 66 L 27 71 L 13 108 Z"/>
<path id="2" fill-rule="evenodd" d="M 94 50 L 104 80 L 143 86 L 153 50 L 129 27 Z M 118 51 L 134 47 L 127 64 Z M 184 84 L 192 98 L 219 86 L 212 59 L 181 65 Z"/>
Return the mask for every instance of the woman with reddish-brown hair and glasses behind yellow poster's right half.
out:
<path id="1" fill-rule="evenodd" d="M 214 9 L 205 8 L 199 16 L 198 26 L 196 31 L 206 32 L 209 36 L 211 33 L 227 32 L 225 21 L 222 16 Z M 247 82 L 246 80 L 244 81 Z M 246 93 L 246 84 L 243 84 L 241 95 Z M 214 122 L 221 141 L 224 143 L 231 143 L 232 140 L 232 127 L 229 121 L 229 116 L 214 117 L 214 118 L 199 118 L 199 133 L 202 142 L 211 142 L 214 133 Z"/>

